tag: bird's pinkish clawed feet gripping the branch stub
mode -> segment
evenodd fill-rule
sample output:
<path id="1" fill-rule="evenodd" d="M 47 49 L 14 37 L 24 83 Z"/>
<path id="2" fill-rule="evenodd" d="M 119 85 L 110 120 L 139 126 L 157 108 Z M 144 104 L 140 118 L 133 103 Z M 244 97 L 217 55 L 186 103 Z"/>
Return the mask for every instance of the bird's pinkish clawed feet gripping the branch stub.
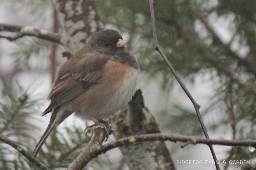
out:
<path id="1" fill-rule="evenodd" d="M 103 128 L 105 130 L 105 133 L 106 133 L 106 140 L 108 140 L 108 136 L 112 134 L 113 132 L 113 129 L 111 128 L 111 124 L 109 123 L 109 119 L 100 119 L 100 120 L 97 120 L 93 117 L 91 117 L 89 115 L 89 118 L 94 121 L 94 125 L 91 125 L 91 126 L 88 126 L 86 129 L 85 129 L 85 136 L 87 136 L 87 134 L 90 132 L 92 132 L 94 129 L 96 128 Z"/>

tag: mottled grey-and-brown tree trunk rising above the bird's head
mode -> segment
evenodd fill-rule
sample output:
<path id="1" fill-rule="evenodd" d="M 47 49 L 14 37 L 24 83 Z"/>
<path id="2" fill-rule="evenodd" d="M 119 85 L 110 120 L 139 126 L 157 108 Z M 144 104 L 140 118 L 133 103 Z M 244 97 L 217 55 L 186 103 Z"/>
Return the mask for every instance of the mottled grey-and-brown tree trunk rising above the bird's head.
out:
<path id="1" fill-rule="evenodd" d="M 76 53 L 92 33 L 101 29 L 94 1 L 54 0 L 54 4 L 64 28 L 64 45 Z"/>

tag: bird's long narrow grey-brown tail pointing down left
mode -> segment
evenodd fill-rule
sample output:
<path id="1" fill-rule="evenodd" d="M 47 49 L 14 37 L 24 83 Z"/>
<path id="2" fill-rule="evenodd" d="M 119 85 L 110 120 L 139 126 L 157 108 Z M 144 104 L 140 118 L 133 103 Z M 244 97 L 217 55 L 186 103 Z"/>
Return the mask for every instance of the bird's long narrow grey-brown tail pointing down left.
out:
<path id="1" fill-rule="evenodd" d="M 50 132 L 52 132 L 52 130 L 54 128 L 56 128 L 60 123 L 62 123 L 63 120 L 65 120 L 71 114 L 72 113 L 70 113 L 69 111 L 66 111 L 66 110 L 64 110 L 64 111 L 61 110 L 61 109 L 57 109 L 57 110 L 54 109 L 53 110 L 52 116 L 50 118 L 50 122 L 49 122 L 49 124 L 47 126 L 47 129 L 44 132 L 44 134 L 41 137 L 41 139 L 39 140 L 39 142 L 37 143 L 37 146 L 34 149 L 34 152 L 32 153 L 32 157 L 34 157 L 34 158 L 36 157 L 36 155 L 38 154 L 38 152 L 41 149 L 42 145 L 44 144 L 44 142 L 46 141 L 46 139 L 50 135 Z"/>

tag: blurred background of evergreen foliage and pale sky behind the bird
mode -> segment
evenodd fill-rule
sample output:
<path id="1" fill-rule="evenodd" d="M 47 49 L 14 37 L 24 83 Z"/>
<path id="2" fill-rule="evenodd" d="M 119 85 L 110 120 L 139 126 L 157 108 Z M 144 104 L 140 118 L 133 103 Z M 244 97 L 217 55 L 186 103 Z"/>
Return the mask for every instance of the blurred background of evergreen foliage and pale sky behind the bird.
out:
<path id="1" fill-rule="evenodd" d="M 255 139 L 256 134 L 256 3 L 252 0 L 156 0 L 159 44 L 198 104 L 210 138 Z M 137 89 L 164 133 L 204 136 L 193 104 L 177 84 L 160 54 L 154 50 L 148 1 L 95 0 L 106 29 L 118 30 L 128 40 L 127 49 L 140 65 Z M 0 22 L 52 30 L 50 0 L 1 0 Z M 62 35 L 59 26 L 58 33 Z M 10 33 L 1 32 L 0 35 Z M 66 61 L 62 45 L 56 49 L 56 66 Z M 10 42 L 0 39 L 0 134 L 32 152 L 49 122 L 40 114 L 48 106 L 51 91 L 50 42 L 25 36 Z M 88 124 L 92 124 L 89 122 Z M 87 124 L 73 116 L 52 138 L 72 148 L 84 139 Z M 71 135 L 71 137 L 70 137 Z M 110 141 L 113 137 L 110 138 Z M 177 170 L 209 169 L 213 160 L 208 146 L 166 142 Z M 54 145 L 54 146 L 53 146 Z M 50 140 L 39 153 L 49 162 L 56 157 Z M 58 146 L 60 147 L 60 146 Z M 81 145 L 80 147 L 83 147 Z M 54 149 L 55 148 L 55 149 Z M 249 160 L 254 148 L 214 146 L 218 160 Z M 57 153 L 57 155 L 61 153 Z M 117 169 L 118 149 L 94 159 L 85 169 Z M 0 143 L 0 168 L 29 169 L 14 149 Z M 176 164 L 177 160 L 202 160 L 202 164 Z M 235 169 L 240 165 L 223 165 Z M 7 169 L 7 168 L 6 168 Z M 32 167 L 35 169 L 35 167 Z M 128 169 L 125 165 L 121 169 Z"/>

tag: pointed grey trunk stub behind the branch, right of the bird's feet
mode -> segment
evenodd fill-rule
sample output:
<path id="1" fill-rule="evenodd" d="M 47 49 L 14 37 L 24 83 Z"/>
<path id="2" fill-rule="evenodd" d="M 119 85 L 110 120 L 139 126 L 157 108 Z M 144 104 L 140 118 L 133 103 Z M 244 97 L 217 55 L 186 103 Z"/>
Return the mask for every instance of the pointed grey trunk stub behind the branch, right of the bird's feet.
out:
<path id="1" fill-rule="evenodd" d="M 144 106 L 142 91 L 137 90 L 128 106 L 120 110 L 113 123 L 116 139 L 160 133 L 153 115 Z M 130 170 L 175 170 L 164 141 L 150 141 L 119 147 Z"/>

